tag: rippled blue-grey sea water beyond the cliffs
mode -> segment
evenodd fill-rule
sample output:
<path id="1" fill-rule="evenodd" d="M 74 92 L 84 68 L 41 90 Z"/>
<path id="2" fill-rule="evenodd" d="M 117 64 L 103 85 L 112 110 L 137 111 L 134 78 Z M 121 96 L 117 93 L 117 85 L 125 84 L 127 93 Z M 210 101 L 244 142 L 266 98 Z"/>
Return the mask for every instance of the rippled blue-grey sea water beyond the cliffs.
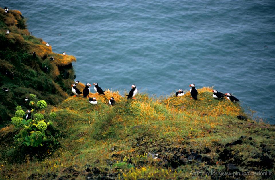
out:
<path id="1" fill-rule="evenodd" d="M 148 94 L 215 86 L 275 124 L 275 1 L 2 1 L 76 79 Z M 247 110 L 248 111 L 248 110 Z"/>

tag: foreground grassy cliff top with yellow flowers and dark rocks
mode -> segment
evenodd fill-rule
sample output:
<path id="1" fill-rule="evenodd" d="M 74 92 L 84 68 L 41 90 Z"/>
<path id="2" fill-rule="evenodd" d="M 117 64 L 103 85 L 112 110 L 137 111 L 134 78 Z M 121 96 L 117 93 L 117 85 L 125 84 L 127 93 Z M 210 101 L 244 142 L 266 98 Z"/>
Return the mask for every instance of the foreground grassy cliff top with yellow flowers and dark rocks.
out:
<path id="1" fill-rule="evenodd" d="M 82 90 L 83 85 L 78 88 Z M 162 99 L 138 94 L 136 100 L 128 101 L 117 91 L 107 90 L 105 96 L 90 93 L 97 105 L 81 95 L 68 97 L 46 110 L 57 114 L 54 124 L 60 130 L 61 147 L 53 151 L 48 146 L 44 159 L 30 161 L 30 156 L 12 155 L 20 154 L 16 146 L 1 145 L 2 178 L 192 179 L 196 177 L 190 172 L 274 174 L 274 126 L 250 118 L 239 120 L 237 115 L 247 116 L 240 105 L 214 99 L 211 91 L 198 89 L 198 100 L 190 99 L 189 93 Z M 110 97 L 117 101 L 114 106 L 108 105 Z M 13 126 L 7 126 L 0 134 L 13 131 Z"/>

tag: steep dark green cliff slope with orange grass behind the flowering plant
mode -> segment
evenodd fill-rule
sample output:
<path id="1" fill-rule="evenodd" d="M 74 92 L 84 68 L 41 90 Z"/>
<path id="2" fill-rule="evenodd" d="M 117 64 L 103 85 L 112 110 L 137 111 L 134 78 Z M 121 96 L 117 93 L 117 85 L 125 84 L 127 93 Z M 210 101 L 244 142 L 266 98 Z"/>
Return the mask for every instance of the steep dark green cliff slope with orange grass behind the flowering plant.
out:
<path id="1" fill-rule="evenodd" d="M 46 42 L 32 36 L 20 11 L 5 13 L 0 8 L 0 42 L 0 126 L 10 121 L 17 105 L 29 108 L 24 99 L 30 93 L 51 105 L 68 97 L 68 87 L 75 78 L 72 62 L 76 58 L 54 53 Z M 54 60 L 50 61 L 50 57 Z"/>

